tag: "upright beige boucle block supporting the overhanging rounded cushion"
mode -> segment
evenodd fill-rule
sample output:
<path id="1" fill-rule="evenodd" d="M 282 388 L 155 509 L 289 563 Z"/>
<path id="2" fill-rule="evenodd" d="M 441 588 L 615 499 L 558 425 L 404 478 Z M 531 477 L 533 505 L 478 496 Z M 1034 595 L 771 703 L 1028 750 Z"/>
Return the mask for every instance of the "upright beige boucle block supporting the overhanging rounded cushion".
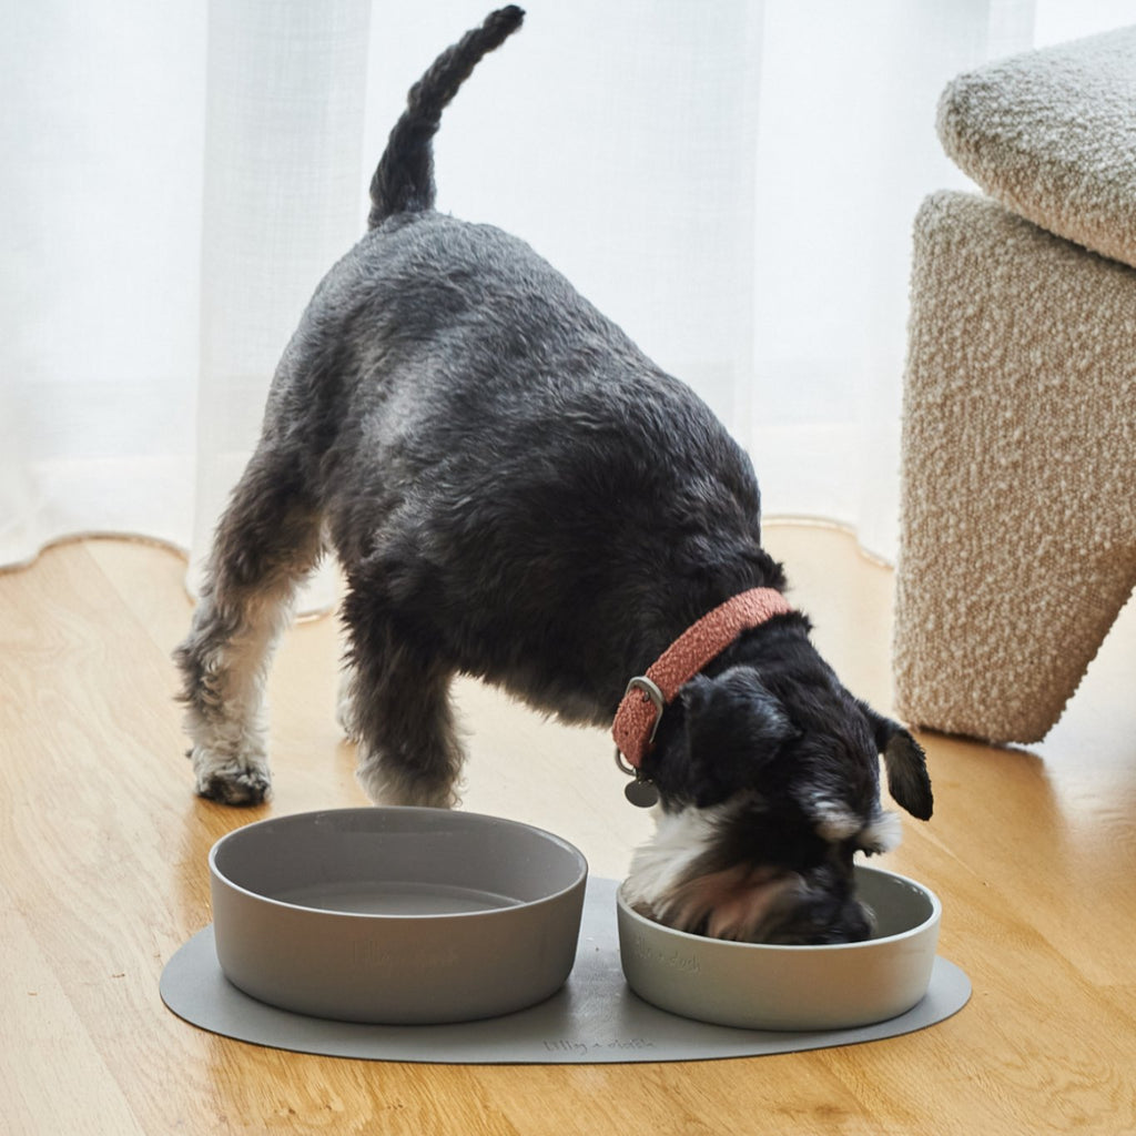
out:
<path id="1" fill-rule="evenodd" d="M 1136 270 L 987 198 L 916 222 L 895 684 L 1034 742 L 1136 584 Z"/>

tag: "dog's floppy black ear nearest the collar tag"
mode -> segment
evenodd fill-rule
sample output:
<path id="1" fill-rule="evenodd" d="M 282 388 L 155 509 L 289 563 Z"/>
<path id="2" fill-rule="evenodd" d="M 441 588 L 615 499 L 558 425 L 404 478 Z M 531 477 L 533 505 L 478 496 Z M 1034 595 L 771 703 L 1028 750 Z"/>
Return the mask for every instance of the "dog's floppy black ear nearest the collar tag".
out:
<path id="1" fill-rule="evenodd" d="M 688 791 L 699 808 L 754 783 L 754 771 L 796 735 L 788 715 L 752 667 L 695 675 L 679 692 Z"/>

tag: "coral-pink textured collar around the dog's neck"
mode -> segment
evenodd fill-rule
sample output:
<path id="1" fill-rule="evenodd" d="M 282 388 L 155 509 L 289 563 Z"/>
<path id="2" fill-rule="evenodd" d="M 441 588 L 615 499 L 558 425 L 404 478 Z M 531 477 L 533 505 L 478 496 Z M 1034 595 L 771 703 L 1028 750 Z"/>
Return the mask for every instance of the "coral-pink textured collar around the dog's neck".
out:
<path id="1" fill-rule="evenodd" d="M 654 741 L 663 708 L 674 700 L 679 687 L 721 654 L 742 632 L 792 610 L 790 602 L 776 588 L 753 587 L 708 611 L 687 627 L 648 667 L 646 674 L 636 675 L 627 684 L 611 727 L 617 762 L 623 754 L 630 767 L 626 771 L 637 774 Z"/>

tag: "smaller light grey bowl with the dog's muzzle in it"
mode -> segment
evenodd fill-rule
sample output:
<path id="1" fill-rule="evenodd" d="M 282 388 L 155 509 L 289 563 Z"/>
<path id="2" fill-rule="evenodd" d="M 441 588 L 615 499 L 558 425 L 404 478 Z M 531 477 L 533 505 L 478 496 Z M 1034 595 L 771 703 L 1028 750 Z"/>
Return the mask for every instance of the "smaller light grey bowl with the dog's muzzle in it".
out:
<path id="1" fill-rule="evenodd" d="M 849 1029 L 905 1013 L 927 993 L 942 905 L 914 880 L 855 867 L 874 937 L 772 946 L 673 930 L 617 899 L 619 953 L 640 997 L 671 1013 L 744 1029 Z"/>

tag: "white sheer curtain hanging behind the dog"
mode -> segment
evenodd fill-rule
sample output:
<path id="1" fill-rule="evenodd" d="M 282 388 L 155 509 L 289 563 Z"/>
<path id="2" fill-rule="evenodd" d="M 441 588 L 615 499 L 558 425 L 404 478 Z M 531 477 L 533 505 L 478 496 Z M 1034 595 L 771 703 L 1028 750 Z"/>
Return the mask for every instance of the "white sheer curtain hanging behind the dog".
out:
<path id="1" fill-rule="evenodd" d="M 200 557 L 406 89 L 490 3 L 5 5 L 0 563 L 89 532 Z M 767 515 L 889 556 L 910 224 L 964 184 L 938 92 L 1136 0 L 526 8 L 446 114 L 440 207 L 700 391 Z"/>

